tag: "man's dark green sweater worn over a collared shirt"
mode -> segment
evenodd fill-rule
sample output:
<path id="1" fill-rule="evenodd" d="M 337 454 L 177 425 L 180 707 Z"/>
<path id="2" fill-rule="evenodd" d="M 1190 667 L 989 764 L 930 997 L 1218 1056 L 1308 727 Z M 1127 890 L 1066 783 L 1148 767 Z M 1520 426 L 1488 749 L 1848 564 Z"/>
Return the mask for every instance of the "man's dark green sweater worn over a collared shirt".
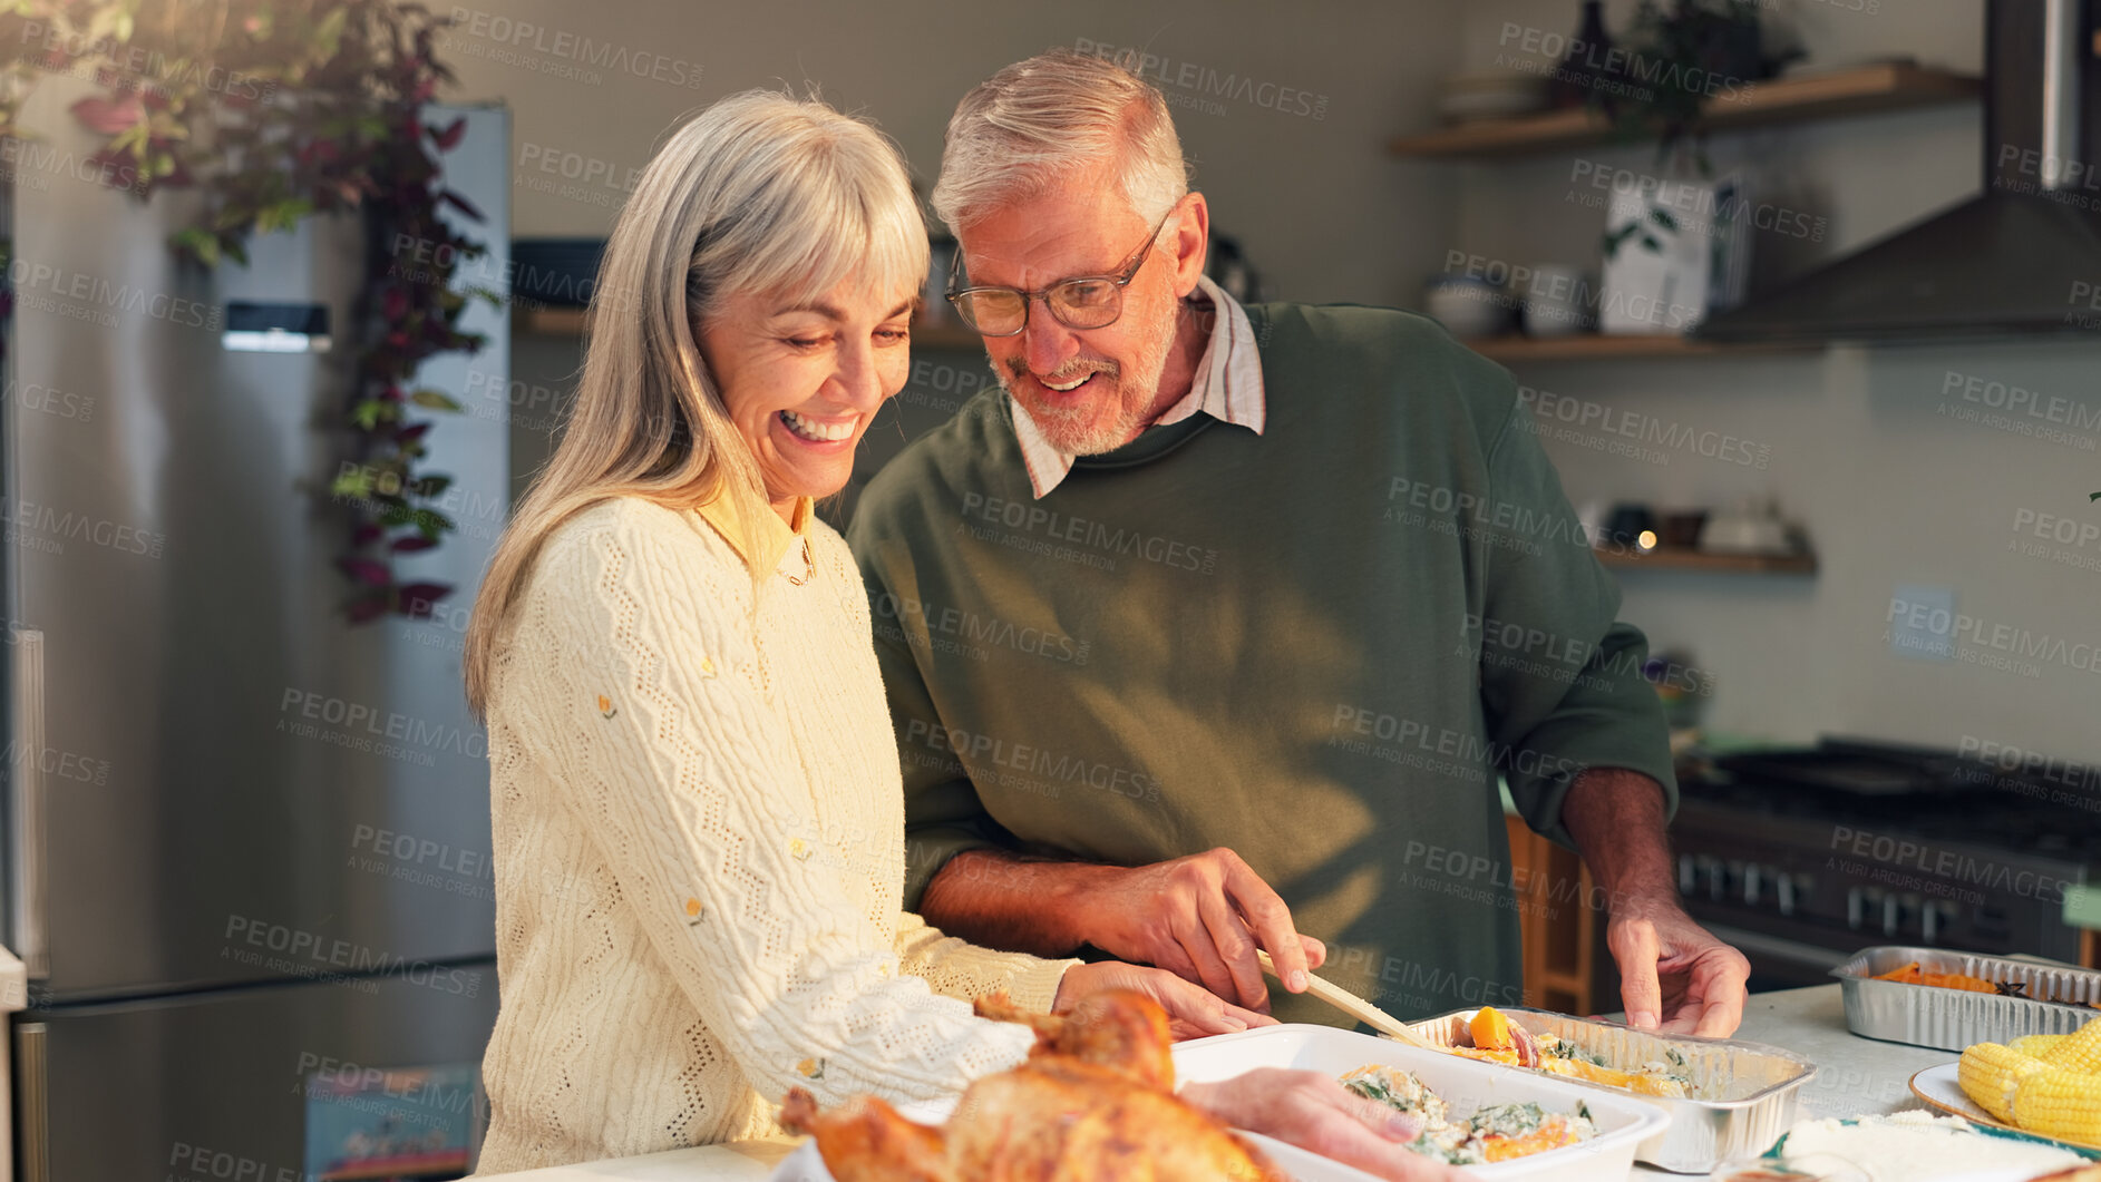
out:
<path id="1" fill-rule="evenodd" d="M 1034 500 L 987 391 L 861 495 L 906 903 L 969 848 L 1229 846 L 1345 989 L 1395 1014 L 1517 1004 L 1496 771 L 1561 842 L 1584 766 L 1647 773 L 1674 806 L 1645 640 L 1506 372 L 1408 313 L 1248 317 L 1263 435 L 1200 414 Z M 1569 924 L 1582 901 L 1548 905 Z"/>

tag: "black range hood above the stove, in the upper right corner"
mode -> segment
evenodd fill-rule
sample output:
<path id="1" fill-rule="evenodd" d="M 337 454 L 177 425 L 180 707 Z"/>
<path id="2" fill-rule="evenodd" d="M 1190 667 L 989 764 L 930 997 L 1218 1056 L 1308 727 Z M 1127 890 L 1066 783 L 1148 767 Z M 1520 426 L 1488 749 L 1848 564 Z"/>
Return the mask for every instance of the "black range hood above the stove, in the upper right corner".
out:
<path id="1" fill-rule="evenodd" d="M 2101 0 L 2093 0 L 2101 6 Z M 2074 332 L 2101 315 L 2090 0 L 1988 0 L 1983 195 L 1738 309 L 1702 340 Z"/>

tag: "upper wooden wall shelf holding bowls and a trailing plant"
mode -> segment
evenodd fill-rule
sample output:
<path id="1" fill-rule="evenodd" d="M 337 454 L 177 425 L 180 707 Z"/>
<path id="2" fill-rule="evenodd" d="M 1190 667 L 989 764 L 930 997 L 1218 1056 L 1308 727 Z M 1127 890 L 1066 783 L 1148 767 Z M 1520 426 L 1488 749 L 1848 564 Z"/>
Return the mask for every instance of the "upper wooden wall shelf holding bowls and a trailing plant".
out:
<path id="1" fill-rule="evenodd" d="M 1754 82 L 1735 99 L 1714 99 L 1708 107 L 1708 126 L 1714 130 L 1735 130 L 1761 124 L 1901 111 L 1908 107 L 1960 103 L 1981 92 L 1983 80 L 1969 73 L 1908 63 L 1861 65 L 1857 69 L 1811 73 L 1805 78 Z M 1429 160 L 1490 160 L 1557 147 L 1582 147 L 1611 139 L 1611 124 L 1593 111 L 1576 109 L 1517 115 L 1511 120 L 1483 120 L 1397 136 L 1387 143 L 1387 151 Z"/>

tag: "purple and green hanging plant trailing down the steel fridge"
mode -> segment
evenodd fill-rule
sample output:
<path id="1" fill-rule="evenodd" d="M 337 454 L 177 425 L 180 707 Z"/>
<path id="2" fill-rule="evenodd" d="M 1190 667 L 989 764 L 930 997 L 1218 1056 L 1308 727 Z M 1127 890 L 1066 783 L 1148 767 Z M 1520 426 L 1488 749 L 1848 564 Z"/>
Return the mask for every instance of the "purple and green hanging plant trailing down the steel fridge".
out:
<path id="1" fill-rule="evenodd" d="M 452 592 L 395 569 L 456 529 L 437 508 L 452 479 L 422 470 L 437 422 L 422 414 L 460 403 L 414 386 L 416 370 L 485 342 L 460 332 L 469 296 L 452 290 L 483 246 L 439 216 L 450 206 L 483 220 L 439 183 L 437 157 L 464 120 L 424 124 L 452 82 L 433 55 L 450 23 L 393 0 L 0 0 L 0 134 L 21 134 L 15 115 L 42 73 L 95 78 L 105 92 L 71 113 L 107 136 L 90 160 L 101 181 L 141 202 L 164 187 L 204 195 L 197 223 L 168 239 L 179 256 L 246 265 L 250 235 L 313 214 L 363 218 L 359 353 L 340 420 L 349 462 L 326 489 L 347 514 L 342 611 L 359 624 L 427 617 Z M 397 267 L 401 241 L 429 262 Z"/>

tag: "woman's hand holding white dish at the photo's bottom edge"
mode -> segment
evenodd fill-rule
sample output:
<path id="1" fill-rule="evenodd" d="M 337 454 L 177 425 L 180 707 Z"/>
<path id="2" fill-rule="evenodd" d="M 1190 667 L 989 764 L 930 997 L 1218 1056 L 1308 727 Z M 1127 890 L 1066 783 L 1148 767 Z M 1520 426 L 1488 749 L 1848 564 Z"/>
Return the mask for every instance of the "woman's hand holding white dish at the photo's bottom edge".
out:
<path id="1" fill-rule="evenodd" d="M 1185 1083 L 1181 1098 L 1212 1117 L 1393 1182 L 1462 1182 L 1464 1172 L 1406 1148 L 1418 1117 L 1366 1100 L 1319 1071 L 1263 1067 L 1219 1083 Z"/>

